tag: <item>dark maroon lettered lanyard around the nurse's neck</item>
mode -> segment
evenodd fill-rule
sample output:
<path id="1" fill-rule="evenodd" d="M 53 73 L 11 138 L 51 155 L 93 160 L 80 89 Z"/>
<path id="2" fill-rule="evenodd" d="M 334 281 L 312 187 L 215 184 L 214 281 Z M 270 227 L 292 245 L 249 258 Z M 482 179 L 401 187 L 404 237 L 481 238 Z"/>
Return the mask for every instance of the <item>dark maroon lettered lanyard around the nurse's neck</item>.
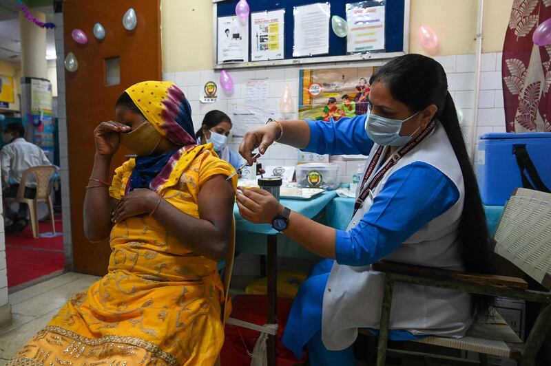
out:
<path id="1" fill-rule="evenodd" d="M 388 160 L 388 162 L 380 169 L 380 171 L 377 172 L 377 174 L 375 174 L 371 182 L 369 182 L 369 184 L 366 186 L 366 183 L 369 180 L 371 173 L 373 173 L 375 166 L 377 166 L 377 163 L 381 158 L 384 147 L 380 146 L 377 149 L 377 151 L 375 151 L 375 154 L 373 155 L 373 159 L 371 159 L 371 162 L 367 167 L 367 171 L 364 174 L 364 179 L 362 180 L 362 186 L 360 186 L 360 195 L 358 195 L 356 203 L 354 204 L 353 215 L 355 215 L 358 209 L 362 206 L 367 196 L 369 195 L 369 192 L 373 191 L 373 189 L 377 186 L 377 184 L 379 184 L 379 182 L 382 180 L 382 177 L 384 177 L 385 173 L 389 171 L 393 166 L 395 166 L 395 164 L 398 162 L 398 160 L 400 160 L 400 158 L 402 158 L 402 156 L 406 155 L 406 153 L 411 151 L 420 142 L 422 142 L 430 134 L 430 132 L 432 132 L 435 129 L 435 127 L 436 127 L 436 121 L 433 120 L 428 124 L 428 126 L 421 133 L 419 133 L 419 135 L 414 140 L 408 142 L 403 147 L 401 147 L 398 151 L 393 153 L 392 158 Z"/>

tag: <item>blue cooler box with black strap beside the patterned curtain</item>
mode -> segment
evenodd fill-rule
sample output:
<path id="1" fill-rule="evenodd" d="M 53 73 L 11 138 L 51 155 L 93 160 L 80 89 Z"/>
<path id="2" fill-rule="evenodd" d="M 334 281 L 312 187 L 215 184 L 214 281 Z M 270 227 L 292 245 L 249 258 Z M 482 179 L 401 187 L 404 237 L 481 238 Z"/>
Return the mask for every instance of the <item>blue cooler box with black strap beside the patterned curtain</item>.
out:
<path id="1" fill-rule="evenodd" d="M 533 177 L 533 169 L 519 168 L 517 156 L 523 157 L 521 161 L 530 160 L 541 182 L 551 189 L 551 133 L 486 133 L 479 138 L 475 158 L 484 204 L 503 206 L 514 189 L 531 188 L 526 182 L 534 187 L 541 185 L 534 182 L 537 178 Z"/>

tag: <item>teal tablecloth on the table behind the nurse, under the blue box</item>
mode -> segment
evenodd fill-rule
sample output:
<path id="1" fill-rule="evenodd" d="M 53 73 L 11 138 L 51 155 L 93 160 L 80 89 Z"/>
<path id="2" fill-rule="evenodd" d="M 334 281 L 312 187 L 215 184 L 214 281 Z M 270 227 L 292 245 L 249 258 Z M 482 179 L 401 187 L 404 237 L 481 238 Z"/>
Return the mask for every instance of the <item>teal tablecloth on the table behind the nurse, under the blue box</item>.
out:
<path id="1" fill-rule="evenodd" d="M 354 202 L 353 198 L 343 197 L 336 197 L 329 202 L 325 211 L 327 225 L 339 230 L 346 230 L 354 212 Z M 497 230 L 499 219 L 503 215 L 503 206 L 484 206 L 484 211 L 486 212 L 488 232 L 493 237 Z"/>

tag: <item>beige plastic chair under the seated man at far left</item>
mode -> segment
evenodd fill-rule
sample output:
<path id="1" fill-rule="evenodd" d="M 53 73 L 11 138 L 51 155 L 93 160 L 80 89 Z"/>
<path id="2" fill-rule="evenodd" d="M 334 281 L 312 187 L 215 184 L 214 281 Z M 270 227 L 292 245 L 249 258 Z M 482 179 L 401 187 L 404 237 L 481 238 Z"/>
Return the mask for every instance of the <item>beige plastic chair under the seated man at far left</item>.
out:
<path id="1" fill-rule="evenodd" d="M 54 221 L 54 205 L 52 204 L 52 197 L 50 192 L 52 191 L 52 185 L 50 184 L 50 178 L 56 172 L 55 166 L 34 166 L 29 168 L 23 173 L 21 177 L 21 183 L 19 183 L 19 190 L 17 196 L 13 198 L 5 198 L 6 205 L 11 203 L 26 204 L 29 207 L 30 222 L 32 227 L 32 236 L 34 238 L 39 237 L 39 219 L 37 207 L 39 202 L 45 202 L 48 204 L 48 211 L 50 211 L 50 221 L 52 222 L 52 233 L 56 233 L 56 224 Z M 25 198 L 25 185 L 28 184 L 30 177 L 34 176 L 35 182 L 37 182 L 37 194 L 34 198 Z"/>

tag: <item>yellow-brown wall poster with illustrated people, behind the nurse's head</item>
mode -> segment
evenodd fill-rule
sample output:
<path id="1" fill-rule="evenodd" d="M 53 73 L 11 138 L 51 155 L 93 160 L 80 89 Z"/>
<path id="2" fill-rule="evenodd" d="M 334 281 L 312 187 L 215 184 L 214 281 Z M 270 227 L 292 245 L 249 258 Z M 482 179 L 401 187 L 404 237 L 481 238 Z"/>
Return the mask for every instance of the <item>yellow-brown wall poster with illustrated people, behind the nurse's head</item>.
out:
<path id="1" fill-rule="evenodd" d="M 302 69 L 298 118 L 340 120 L 367 112 L 369 78 L 377 67 Z"/>

